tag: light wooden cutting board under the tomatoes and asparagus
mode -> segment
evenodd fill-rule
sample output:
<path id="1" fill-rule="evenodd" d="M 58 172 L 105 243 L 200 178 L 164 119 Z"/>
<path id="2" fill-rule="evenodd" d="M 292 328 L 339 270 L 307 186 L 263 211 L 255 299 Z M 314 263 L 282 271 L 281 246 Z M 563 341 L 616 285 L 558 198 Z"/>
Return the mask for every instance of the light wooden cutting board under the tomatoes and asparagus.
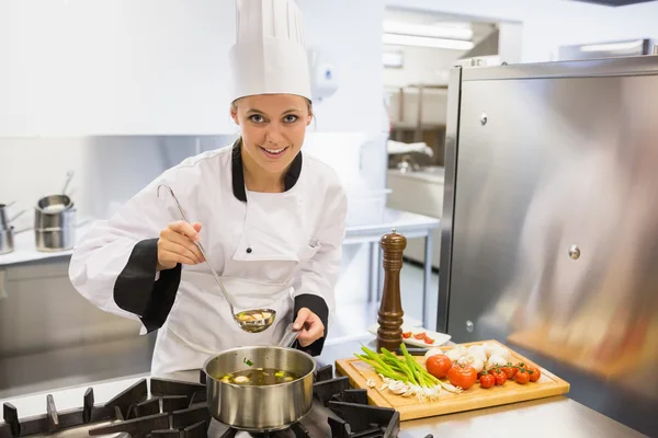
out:
<path id="1" fill-rule="evenodd" d="M 480 345 L 486 342 L 502 345 L 497 341 L 483 341 L 462 345 L 468 347 L 470 345 Z M 381 388 L 384 382 L 379 376 L 377 376 L 370 365 L 364 364 L 358 358 L 339 359 L 336 361 L 336 369 L 341 376 L 349 377 L 353 388 L 366 389 L 372 405 L 395 408 L 399 412 L 402 422 L 479 410 L 483 407 L 499 406 L 502 404 L 560 395 L 569 392 L 569 383 L 548 370 L 537 366 L 532 360 L 527 360 L 511 348 L 504 347 L 508 348 L 512 355 L 512 364 L 525 362 L 529 366 L 537 367 L 542 371 L 542 378 L 537 382 L 527 382 L 526 384 L 508 381 L 502 387 L 494 387 L 490 389 L 480 388 L 479 381 L 476 381 L 472 388 L 460 394 L 442 391 L 441 397 L 436 401 L 419 402 L 415 396 L 404 397 L 401 395 L 395 395 L 388 390 L 382 390 Z M 441 347 L 441 349 L 445 351 L 451 348 L 454 348 L 454 346 Z M 422 356 L 416 357 L 416 359 L 424 366 L 424 358 Z M 375 388 L 368 388 L 366 385 L 366 380 L 371 378 L 377 383 Z M 443 380 L 447 382 L 447 379 Z"/>

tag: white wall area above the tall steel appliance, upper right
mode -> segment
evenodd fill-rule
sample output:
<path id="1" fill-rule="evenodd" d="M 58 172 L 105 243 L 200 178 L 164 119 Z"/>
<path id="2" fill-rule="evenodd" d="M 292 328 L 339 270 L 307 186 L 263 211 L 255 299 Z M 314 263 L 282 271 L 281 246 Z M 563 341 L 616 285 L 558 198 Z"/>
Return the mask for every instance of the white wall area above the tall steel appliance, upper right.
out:
<path id="1" fill-rule="evenodd" d="M 557 59 L 560 45 L 658 36 L 658 2 L 605 8 L 567 0 L 384 0 L 386 5 L 522 22 L 522 62 Z"/>

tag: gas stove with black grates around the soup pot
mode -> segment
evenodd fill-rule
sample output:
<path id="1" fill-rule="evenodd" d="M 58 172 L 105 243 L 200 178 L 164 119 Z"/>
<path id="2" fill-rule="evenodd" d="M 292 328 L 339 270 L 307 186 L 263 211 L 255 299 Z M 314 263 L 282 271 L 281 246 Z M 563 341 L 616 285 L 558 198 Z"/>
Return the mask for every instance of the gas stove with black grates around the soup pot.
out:
<path id="1" fill-rule="evenodd" d="M 22 418 L 11 403 L 4 403 L 0 438 L 393 438 L 400 430 L 398 412 L 370 406 L 367 391 L 352 389 L 347 377 L 334 377 L 331 365 L 317 371 L 310 412 L 276 433 L 246 433 L 212 418 L 203 371 L 198 383 L 141 379 L 103 404 L 94 403 L 93 388 L 89 388 L 79 408 L 57 411 L 52 395 L 46 396 L 45 406 L 45 414 Z"/>

